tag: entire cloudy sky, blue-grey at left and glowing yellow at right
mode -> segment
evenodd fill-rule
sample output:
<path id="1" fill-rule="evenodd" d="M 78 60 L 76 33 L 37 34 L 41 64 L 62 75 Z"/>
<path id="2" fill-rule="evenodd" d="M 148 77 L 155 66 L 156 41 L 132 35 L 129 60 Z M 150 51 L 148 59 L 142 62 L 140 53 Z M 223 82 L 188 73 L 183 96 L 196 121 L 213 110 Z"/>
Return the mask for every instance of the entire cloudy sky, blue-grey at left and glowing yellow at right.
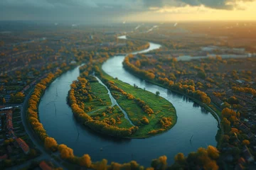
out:
<path id="1" fill-rule="evenodd" d="M 0 0 L 0 20 L 256 20 L 256 0 Z"/>

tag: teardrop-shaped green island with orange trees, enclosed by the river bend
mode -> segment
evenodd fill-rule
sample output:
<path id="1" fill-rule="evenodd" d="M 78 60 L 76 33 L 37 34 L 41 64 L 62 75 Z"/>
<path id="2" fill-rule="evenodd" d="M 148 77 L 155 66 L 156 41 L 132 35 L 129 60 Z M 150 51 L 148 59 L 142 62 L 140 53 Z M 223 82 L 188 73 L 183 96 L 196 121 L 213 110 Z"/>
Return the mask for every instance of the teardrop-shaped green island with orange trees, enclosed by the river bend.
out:
<path id="1" fill-rule="evenodd" d="M 94 71 L 98 80 L 88 70 Z M 116 137 L 146 138 L 176 124 L 174 106 L 159 94 L 114 79 L 97 66 L 87 64 L 80 71 L 78 81 L 71 85 L 69 103 L 75 115 L 84 111 L 78 120 L 93 130 Z"/>

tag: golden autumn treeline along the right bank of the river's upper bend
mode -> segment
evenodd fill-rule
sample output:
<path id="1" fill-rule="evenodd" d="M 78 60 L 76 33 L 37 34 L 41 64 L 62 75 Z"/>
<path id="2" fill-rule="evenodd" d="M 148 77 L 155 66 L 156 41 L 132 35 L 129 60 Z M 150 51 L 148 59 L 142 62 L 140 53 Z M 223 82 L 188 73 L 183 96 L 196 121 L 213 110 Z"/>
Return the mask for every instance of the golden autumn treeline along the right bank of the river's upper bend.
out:
<path id="1" fill-rule="evenodd" d="M 143 79 L 149 80 L 149 81 L 156 81 L 159 84 L 162 84 L 163 86 L 166 86 L 168 89 L 174 89 L 176 91 L 180 91 L 182 93 L 187 94 L 188 96 L 191 96 L 193 98 L 196 98 L 198 101 L 201 101 L 203 103 L 210 103 L 210 98 L 207 96 L 206 93 L 200 90 L 195 89 L 195 84 L 190 84 L 188 81 L 180 81 L 178 83 L 174 83 L 174 81 L 169 80 L 167 77 L 156 77 L 153 73 L 144 71 L 142 69 L 139 69 L 134 66 L 134 64 L 131 64 L 129 62 L 129 58 L 133 57 L 132 55 L 129 55 L 125 57 L 123 65 L 124 68 L 127 69 L 129 72 L 132 72 L 132 74 L 136 74 L 139 77 L 142 77 Z"/>

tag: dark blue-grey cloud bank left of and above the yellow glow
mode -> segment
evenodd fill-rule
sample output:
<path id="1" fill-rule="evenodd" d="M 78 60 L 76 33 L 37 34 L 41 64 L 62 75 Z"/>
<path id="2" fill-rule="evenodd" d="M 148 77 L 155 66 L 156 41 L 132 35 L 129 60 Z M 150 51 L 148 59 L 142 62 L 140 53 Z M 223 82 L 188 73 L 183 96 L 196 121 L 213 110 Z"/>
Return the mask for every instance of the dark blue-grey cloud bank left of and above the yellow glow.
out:
<path id="1" fill-rule="evenodd" d="M 206 6 L 239 8 L 240 1 L 255 0 L 0 0 L 0 20 L 114 21 L 161 8 Z"/>

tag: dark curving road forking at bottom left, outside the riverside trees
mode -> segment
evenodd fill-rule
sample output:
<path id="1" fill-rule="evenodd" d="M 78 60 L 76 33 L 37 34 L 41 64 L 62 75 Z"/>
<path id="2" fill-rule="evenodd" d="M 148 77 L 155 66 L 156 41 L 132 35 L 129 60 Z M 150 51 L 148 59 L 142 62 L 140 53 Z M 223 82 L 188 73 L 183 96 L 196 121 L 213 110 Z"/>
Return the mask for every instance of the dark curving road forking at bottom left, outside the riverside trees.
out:
<path id="1" fill-rule="evenodd" d="M 23 126 L 26 130 L 26 133 L 28 134 L 29 138 L 31 139 L 33 144 L 36 146 L 36 148 L 41 151 L 41 155 L 39 157 L 36 157 L 35 159 L 28 160 L 24 164 L 12 166 L 9 169 L 10 170 L 11 169 L 23 169 L 26 166 L 29 166 L 33 161 L 41 161 L 41 160 L 48 160 L 50 162 L 53 162 L 53 164 L 55 164 L 55 166 L 63 167 L 61 164 L 59 164 L 59 162 L 55 161 L 55 159 L 53 159 L 51 157 L 50 153 L 46 152 L 46 149 L 43 147 L 41 142 L 39 142 L 37 135 L 33 132 L 30 125 L 28 125 L 28 123 L 26 122 L 27 121 L 26 120 L 26 105 L 28 104 L 28 99 L 30 98 L 32 93 L 33 93 L 33 89 L 31 89 L 31 91 L 29 91 L 29 94 L 26 96 L 26 98 L 21 106 L 21 120 L 22 120 Z M 65 167 L 63 167 L 63 169 L 65 169 Z"/>

